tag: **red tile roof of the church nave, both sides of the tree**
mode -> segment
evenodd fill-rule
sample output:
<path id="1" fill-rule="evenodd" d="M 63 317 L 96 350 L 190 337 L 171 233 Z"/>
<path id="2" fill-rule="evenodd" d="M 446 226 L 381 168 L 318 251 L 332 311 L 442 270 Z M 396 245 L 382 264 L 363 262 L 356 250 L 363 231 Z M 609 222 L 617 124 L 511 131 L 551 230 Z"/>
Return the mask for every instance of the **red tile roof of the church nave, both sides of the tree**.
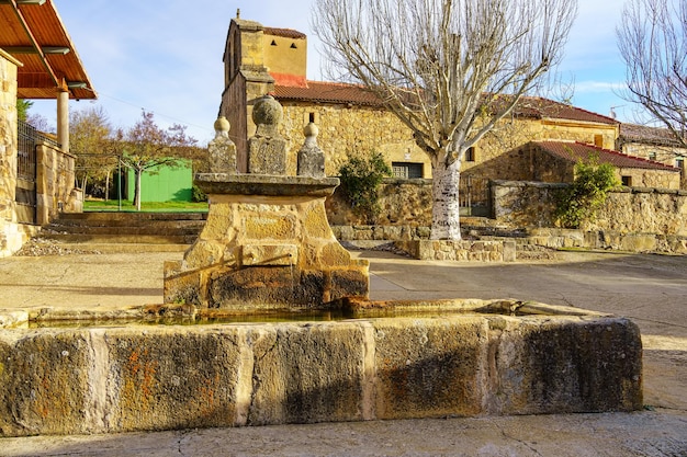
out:
<path id="1" fill-rule="evenodd" d="M 278 81 L 274 88 L 274 98 L 278 100 L 314 103 L 383 106 L 381 100 L 362 85 L 320 81 L 306 82 L 306 87 L 293 88 L 279 84 Z M 611 117 L 538 96 L 522 98 L 518 106 L 516 106 L 515 113 L 517 116 L 532 118 L 554 118 L 607 125 L 618 124 Z"/>

